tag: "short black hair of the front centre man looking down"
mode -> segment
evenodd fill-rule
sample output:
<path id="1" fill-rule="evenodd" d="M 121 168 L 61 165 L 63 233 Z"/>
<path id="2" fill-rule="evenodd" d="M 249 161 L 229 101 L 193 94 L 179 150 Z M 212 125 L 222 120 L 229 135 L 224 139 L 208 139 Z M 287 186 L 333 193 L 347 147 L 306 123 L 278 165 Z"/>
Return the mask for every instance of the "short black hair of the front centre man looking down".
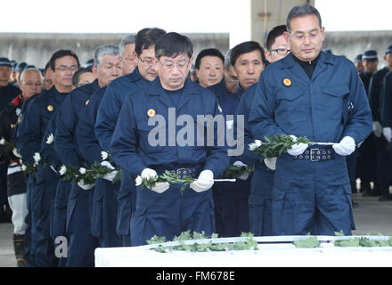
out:
<path id="1" fill-rule="evenodd" d="M 192 58 L 193 45 L 189 37 L 176 32 L 163 35 L 155 44 L 155 57 L 157 59 L 161 56 L 176 57 L 181 53 L 186 53 L 189 58 Z"/>

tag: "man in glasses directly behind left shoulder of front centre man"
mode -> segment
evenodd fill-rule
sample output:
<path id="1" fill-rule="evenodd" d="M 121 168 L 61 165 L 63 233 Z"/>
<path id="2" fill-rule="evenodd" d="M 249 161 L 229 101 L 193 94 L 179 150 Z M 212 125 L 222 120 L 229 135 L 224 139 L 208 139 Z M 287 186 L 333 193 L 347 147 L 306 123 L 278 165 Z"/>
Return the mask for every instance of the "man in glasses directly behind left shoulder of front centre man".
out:
<path id="1" fill-rule="evenodd" d="M 106 89 L 95 122 L 95 134 L 103 151 L 109 151 L 111 138 L 117 124 L 118 114 L 127 95 L 138 86 L 146 85 L 157 76 L 157 63 L 154 46 L 159 37 L 166 32 L 160 28 L 143 28 L 136 34 L 134 56 L 137 68 L 134 72 L 114 80 Z M 130 245 L 129 223 L 134 206 L 135 181 L 121 171 L 121 186 L 118 190 L 117 232 L 122 237 L 123 245 Z M 135 197 L 134 197 L 135 198 Z"/>

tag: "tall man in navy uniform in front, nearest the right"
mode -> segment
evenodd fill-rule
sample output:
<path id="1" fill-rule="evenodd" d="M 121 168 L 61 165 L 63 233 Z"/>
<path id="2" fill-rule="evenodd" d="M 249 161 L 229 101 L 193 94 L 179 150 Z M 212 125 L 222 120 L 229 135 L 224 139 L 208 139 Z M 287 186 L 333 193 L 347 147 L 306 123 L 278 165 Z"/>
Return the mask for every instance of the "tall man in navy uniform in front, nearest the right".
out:
<path id="1" fill-rule="evenodd" d="M 320 13 L 293 7 L 286 38 L 291 53 L 270 64 L 257 83 L 249 127 L 254 138 L 288 134 L 295 141 L 276 161 L 272 193 L 277 235 L 325 234 L 355 228 L 346 156 L 372 132 L 372 113 L 354 64 L 322 52 Z"/>

